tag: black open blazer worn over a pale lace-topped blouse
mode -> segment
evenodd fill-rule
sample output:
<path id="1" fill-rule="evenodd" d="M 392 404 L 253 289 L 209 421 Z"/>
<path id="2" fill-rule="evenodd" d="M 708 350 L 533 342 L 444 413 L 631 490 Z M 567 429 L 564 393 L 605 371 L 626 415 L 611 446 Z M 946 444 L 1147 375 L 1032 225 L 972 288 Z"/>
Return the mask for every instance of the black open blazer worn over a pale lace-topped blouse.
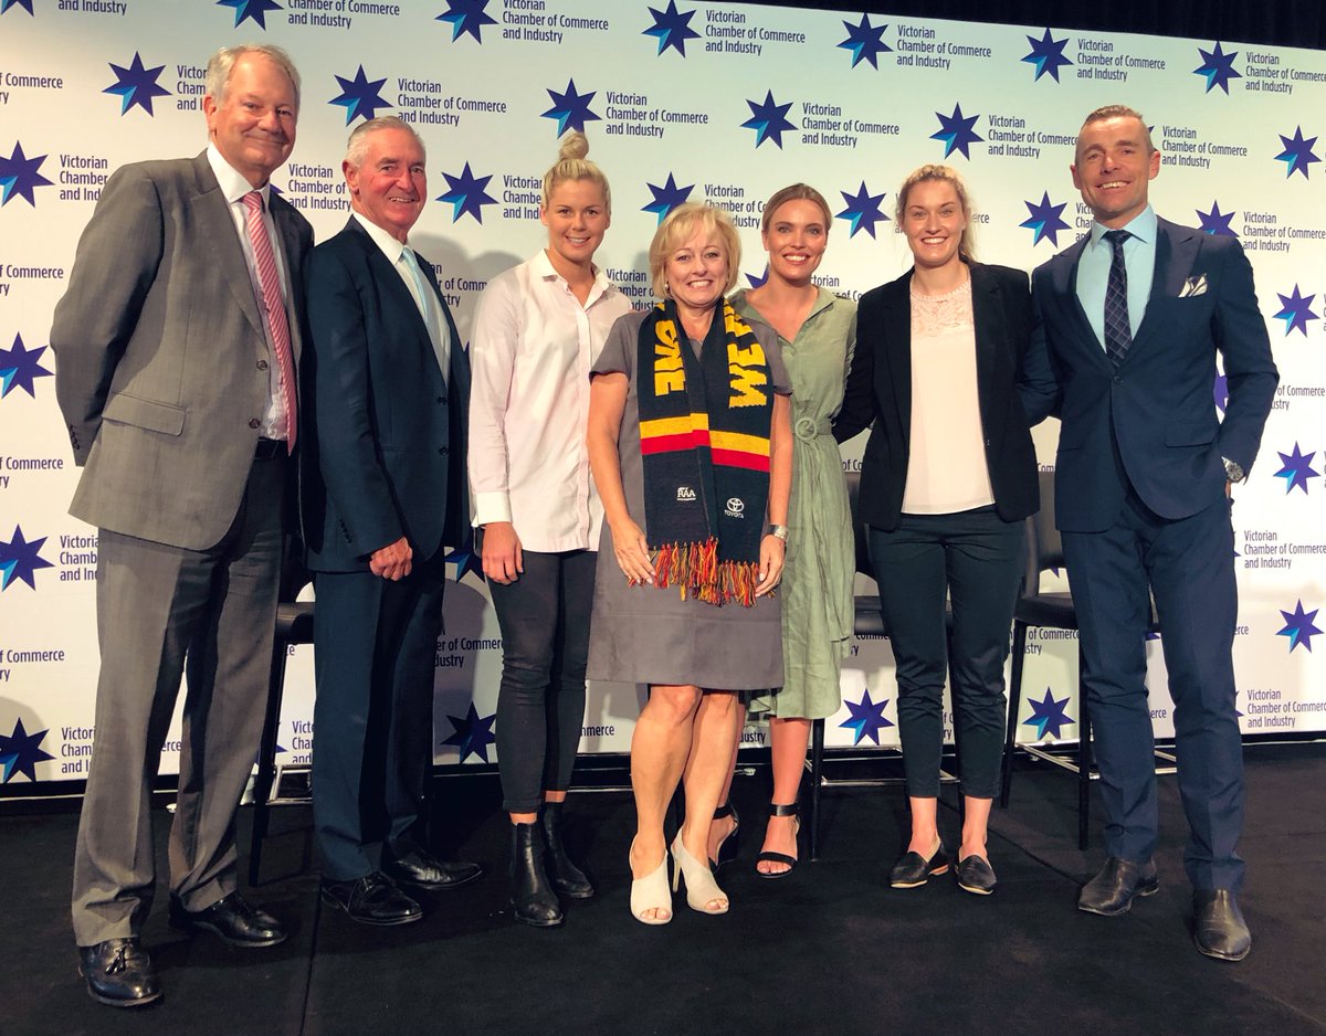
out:
<path id="1" fill-rule="evenodd" d="M 1017 376 L 1032 337 L 1026 274 L 1008 266 L 972 264 L 976 323 L 976 387 L 985 465 L 994 509 L 1005 522 L 1041 506 L 1036 448 L 1017 392 Z M 874 421 L 861 468 L 858 518 L 876 529 L 898 527 L 907 486 L 911 439 L 911 270 L 861 297 L 857 351 L 842 409 L 833 423 L 839 442 Z"/>

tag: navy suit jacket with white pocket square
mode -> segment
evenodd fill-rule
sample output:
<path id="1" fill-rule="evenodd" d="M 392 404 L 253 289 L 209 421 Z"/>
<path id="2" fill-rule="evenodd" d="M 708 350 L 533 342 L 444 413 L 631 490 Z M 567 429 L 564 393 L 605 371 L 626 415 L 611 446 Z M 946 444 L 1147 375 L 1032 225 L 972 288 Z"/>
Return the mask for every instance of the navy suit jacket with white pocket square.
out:
<path id="1" fill-rule="evenodd" d="M 1280 382 L 1252 266 L 1235 238 L 1160 220 L 1146 315 L 1115 372 L 1077 297 L 1086 240 L 1032 274 L 1024 404 L 1033 424 L 1050 413 L 1063 421 L 1055 521 L 1074 533 L 1109 527 L 1128 484 L 1162 518 L 1187 518 L 1224 498 L 1223 457 L 1252 469 Z"/>

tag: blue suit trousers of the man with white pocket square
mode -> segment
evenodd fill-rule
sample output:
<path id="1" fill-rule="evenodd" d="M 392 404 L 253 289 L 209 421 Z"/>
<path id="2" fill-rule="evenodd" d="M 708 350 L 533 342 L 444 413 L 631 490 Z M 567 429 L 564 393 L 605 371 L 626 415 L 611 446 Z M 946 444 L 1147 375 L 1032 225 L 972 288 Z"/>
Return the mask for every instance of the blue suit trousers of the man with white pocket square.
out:
<path id="1" fill-rule="evenodd" d="M 1086 699 L 1105 804 L 1106 852 L 1147 861 L 1156 844 L 1156 782 L 1147 699 L 1147 587 L 1174 698 L 1179 795 L 1191 837 L 1184 866 L 1199 889 L 1242 885 L 1242 741 L 1235 707 L 1238 612 L 1229 507 L 1189 518 L 1152 513 L 1131 490 L 1102 533 L 1067 533 L 1063 556 L 1081 624 Z"/>

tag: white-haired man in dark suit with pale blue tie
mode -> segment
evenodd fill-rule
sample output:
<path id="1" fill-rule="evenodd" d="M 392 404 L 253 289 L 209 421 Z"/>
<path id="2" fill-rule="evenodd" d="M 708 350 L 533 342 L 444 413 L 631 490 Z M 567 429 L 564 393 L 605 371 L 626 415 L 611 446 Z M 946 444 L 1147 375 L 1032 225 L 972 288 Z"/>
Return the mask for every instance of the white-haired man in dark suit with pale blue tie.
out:
<path id="1" fill-rule="evenodd" d="M 399 885 L 452 889 L 420 816 L 444 544 L 469 526 L 469 366 L 432 268 L 406 244 L 423 142 L 365 122 L 342 163 L 354 213 L 306 265 L 304 525 L 317 609 L 313 812 L 322 898 L 369 925 L 418 921 Z"/>

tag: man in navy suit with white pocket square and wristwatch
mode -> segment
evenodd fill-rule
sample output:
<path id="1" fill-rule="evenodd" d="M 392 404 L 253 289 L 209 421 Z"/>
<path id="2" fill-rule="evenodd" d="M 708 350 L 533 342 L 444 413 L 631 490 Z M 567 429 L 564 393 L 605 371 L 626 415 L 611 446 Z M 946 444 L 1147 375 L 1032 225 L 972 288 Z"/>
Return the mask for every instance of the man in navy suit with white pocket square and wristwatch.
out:
<path id="1" fill-rule="evenodd" d="M 1024 403 L 1033 423 L 1063 423 L 1055 518 L 1106 812 L 1109 860 L 1078 906 L 1122 914 L 1158 888 L 1150 588 L 1175 703 L 1195 939 L 1208 957 L 1241 960 L 1252 938 L 1236 898 L 1244 790 L 1228 493 L 1257 456 L 1278 375 L 1242 249 L 1158 219 L 1147 188 L 1159 171 L 1136 111 L 1087 117 L 1071 172 L 1095 223 L 1033 274 Z M 1224 420 L 1212 401 L 1217 352 Z"/>

